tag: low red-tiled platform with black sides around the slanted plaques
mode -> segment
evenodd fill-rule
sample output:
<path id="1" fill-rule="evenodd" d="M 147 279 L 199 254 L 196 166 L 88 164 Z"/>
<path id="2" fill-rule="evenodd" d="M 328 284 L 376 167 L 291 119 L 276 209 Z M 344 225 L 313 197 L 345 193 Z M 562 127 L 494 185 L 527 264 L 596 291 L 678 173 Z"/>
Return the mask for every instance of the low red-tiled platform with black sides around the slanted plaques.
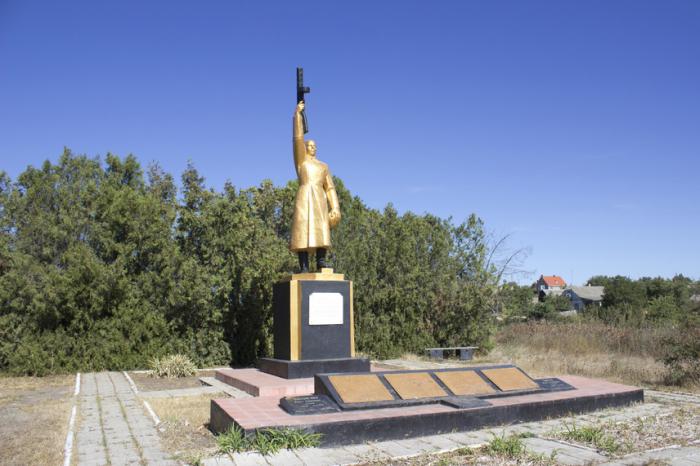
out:
<path id="1" fill-rule="evenodd" d="M 578 376 L 559 378 L 576 389 L 491 398 L 491 406 L 467 409 L 429 404 L 294 416 L 280 408 L 279 398 L 285 396 L 282 394 L 216 399 L 211 403 L 211 428 L 223 432 L 236 424 L 251 434 L 261 428 L 293 427 L 324 434 L 324 445 L 340 445 L 536 421 L 644 400 L 643 390 L 637 387 Z M 313 392 L 313 381 L 309 383 L 305 394 Z"/>

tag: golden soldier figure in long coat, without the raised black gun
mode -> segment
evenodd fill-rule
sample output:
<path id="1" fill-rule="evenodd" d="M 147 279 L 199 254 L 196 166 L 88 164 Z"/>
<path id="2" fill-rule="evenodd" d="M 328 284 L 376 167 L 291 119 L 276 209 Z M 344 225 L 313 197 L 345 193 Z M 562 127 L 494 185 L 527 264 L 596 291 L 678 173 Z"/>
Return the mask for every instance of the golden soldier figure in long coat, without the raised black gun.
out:
<path id="1" fill-rule="evenodd" d="M 340 205 L 328 165 L 316 158 L 316 143 L 304 141 L 304 101 L 294 112 L 294 168 L 299 190 L 294 201 L 292 240 L 289 249 L 299 254 L 302 272 L 309 270 L 309 252 L 316 252 L 318 271 L 326 267 L 331 228 L 340 222 Z"/>

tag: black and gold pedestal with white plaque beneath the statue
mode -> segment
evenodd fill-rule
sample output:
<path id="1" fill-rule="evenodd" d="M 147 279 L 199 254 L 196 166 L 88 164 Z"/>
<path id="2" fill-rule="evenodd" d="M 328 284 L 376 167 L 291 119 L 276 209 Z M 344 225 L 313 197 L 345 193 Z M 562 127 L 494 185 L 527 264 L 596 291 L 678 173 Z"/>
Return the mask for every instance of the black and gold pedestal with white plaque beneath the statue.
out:
<path id="1" fill-rule="evenodd" d="M 298 273 L 273 287 L 274 357 L 263 372 L 297 379 L 323 372 L 369 371 L 355 357 L 352 282 L 333 269 Z"/>

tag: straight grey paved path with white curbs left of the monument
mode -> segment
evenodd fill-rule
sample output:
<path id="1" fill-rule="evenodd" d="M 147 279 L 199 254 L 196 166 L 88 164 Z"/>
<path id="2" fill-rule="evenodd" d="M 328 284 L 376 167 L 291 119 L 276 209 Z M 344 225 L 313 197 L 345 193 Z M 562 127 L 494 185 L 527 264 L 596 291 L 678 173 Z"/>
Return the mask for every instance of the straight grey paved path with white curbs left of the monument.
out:
<path id="1" fill-rule="evenodd" d="M 120 372 L 83 374 L 72 464 L 177 465 L 160 446 L 158 432 Z"/>

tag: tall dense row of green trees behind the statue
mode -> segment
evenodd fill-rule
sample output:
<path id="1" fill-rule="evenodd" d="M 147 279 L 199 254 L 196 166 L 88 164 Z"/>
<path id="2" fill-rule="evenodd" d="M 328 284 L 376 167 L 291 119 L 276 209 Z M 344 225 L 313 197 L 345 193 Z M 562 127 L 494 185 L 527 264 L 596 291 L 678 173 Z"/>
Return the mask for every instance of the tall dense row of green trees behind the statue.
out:
<path id="1" fill-rule="evenodd" d="M 358 351 L 488 348 L 496 274 L 483 223 L 368 208 L 335 180 L 337 270 L 355 281 Z M 296 182 L 178 189 L 133 156 L 73 155 L 0 174 L 0 371 L 199 367 L 271 354 L 271 284 L 288 251 Z"/>

